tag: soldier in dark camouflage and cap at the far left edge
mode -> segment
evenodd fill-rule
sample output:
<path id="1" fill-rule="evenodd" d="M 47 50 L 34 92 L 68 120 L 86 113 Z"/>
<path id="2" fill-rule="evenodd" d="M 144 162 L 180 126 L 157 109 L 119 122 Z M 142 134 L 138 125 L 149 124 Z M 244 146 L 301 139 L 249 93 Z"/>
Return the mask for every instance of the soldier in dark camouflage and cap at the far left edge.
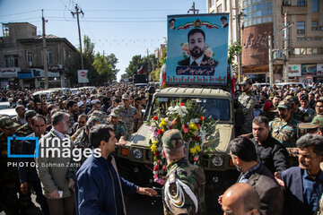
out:
<path id="1" fill-rule="evenodd" d="M 1 116 L 0 118 L 0 212 L 4 211 L 6 215 L 20 214 L 20 206 L 17 193 L 20 190 L 18 168 L 8 166 L 11 162 L 17 161 L 7 157 L 7 137 L 13 136 L 14 131 L 13 120 L 9 116 Z M 11 143 L 11 154 L 19 153 L 16 144 Z"/>

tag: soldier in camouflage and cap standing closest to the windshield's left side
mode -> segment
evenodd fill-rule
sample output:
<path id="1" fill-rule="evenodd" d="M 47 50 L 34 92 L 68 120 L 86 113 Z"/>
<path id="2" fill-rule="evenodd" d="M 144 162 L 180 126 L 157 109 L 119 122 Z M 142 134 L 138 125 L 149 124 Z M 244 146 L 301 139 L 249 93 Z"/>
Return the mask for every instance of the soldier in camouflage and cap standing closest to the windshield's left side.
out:
<path id="1" fill-rule="evenodd" d="M 117 107 L 122 120 L 127 126 L 128 133 L 134 133 L 135 117 L 137 117 L 137 109 L 130 105 L 129 95 L 122 95 L 122 105 Z"/>

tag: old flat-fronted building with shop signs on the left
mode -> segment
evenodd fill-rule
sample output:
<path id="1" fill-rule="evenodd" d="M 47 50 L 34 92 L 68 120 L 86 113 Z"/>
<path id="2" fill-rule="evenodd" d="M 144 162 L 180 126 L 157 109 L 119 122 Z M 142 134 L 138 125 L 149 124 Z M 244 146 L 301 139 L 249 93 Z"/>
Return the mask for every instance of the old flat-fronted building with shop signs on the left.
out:
<path id="1" fill-rule="evenodd" d="M 3 23 L 0 38 L 1 87 L 44 87 L 43 39 L 28 22 Z M 68 64 L 76 48 L 65 38 L 46 36 L 48 87 L 69 87 Z"/>

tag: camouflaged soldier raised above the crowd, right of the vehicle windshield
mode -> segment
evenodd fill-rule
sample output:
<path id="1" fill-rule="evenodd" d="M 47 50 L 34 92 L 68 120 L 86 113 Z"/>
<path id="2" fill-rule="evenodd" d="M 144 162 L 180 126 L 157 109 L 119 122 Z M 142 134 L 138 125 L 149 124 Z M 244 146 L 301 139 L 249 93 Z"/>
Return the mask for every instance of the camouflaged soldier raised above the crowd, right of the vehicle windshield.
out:
<path id="1" fill-rule="evenodd" d="M 235 114 L 243 115 L 243 124 L 237 125 L 240 127 L 238 134 L 251 133 L 252 131 L 253 108 L 256 106 L 257 100 L 250 89 L 250 80 L 241 82 L 242 93 L 238 97 L 238 108 L 235 110 Z"/>

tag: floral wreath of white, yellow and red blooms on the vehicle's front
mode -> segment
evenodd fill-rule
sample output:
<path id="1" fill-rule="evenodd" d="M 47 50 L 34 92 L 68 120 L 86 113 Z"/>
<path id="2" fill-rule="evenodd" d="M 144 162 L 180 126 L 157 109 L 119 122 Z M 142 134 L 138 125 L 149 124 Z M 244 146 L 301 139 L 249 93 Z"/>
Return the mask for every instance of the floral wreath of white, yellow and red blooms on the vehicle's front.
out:
<path id="1" fill-rule="evenodd" d="M 166 107 L 167 108 L 167 107 Z M 216 122 L 210 116 L 205 117 L 205 110 L 199 104 L 193 104 L 188 100 L 186 103 L 177 101 L 167 108 L 166 117 L 162 117 L 160 110 L 157 115 L 148 120 L 147 124 L 151 131 L 150 149 L 153 152 L 153 178 L 160 185 L 164 180 L 160 177 L 165 172 L 165 159 L 162 158 L 162 134 L 170 129 L 179 129 L 188 152 L 188 160 L 199 164 L 201 153 L 214 151 L 207 137 L 214 133 Z"/>

